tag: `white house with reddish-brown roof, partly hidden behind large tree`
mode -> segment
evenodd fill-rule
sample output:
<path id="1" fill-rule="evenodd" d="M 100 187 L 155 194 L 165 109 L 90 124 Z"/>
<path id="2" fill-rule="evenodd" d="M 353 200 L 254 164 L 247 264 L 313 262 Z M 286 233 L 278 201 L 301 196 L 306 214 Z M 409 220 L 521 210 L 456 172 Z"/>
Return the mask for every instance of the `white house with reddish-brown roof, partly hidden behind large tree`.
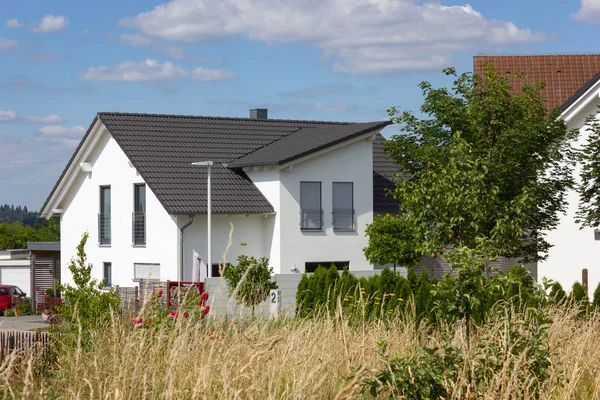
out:
<path id="1" fill-rule="evenodd" d="M 547 109 L 558 107 L 567 126 L 580 131 L 576 147 L 587 142 L 585 119 L 595 114 L 600 105 L 600 54 L 477 56 L 473 58 L 473 71 L 481 74 L 487 64 L 509 77 L 515 93 L 524 83 L 545 81 L 542 94 L 547 99 Z M 525 76 L 517 80 L 512 77 L 515 72 Z M 579 182 L 579 167 L 575 174 Z M 567 214 L 561 216 L 557 229 L 547 232 L 553 247 L 548 259 L 538 263 L 538 277 L 553 279 L 569 289 L 575 281 L 581 282 L 582 269 L 586 268 L 591 295 L 600 282 L 600 235 L 592 228 L 580 229 L 575 223 L 578 193 L 570 191 L 567 199 Z"/>

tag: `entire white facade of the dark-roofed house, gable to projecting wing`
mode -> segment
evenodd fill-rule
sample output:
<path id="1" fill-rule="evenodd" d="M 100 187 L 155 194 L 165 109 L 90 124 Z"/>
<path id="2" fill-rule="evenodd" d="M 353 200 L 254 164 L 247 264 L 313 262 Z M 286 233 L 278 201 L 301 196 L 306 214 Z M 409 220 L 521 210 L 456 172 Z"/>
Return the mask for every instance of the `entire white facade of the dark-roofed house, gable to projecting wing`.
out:
<path id="1" fill-rule="evenodd" d="M 235 263 L 240 255 L 265 256 L 275 273 L 304 271 L 306 262 L 349 262 L 352 270 L 369 270 L 362 249 L 367 245 L 366 224 L 373 221 L 373 133 L 322 150 L 292 164 L 249 168 L 250 179 L 272 204 L 274 213 L 213 215 L 212 262 Z M 322 184 L 323 229 L 300 229 L 301 181 Z M 332 184 L 353 183 L 355 229 L 334 232 Z M 72 283 L 68 266 L 77 245 L 89 233 L 88 262 L 93 277 L 103 279 L 104 263 L 111 264 L 111 283 L 134 285 L 134 264 L 159 264 L 160 280 L 180 280 L 180 227 L 188 215 L 169 215 L 150 187 L 146 187 L 146 244 L 132 242 L 134 185 L 144 183 L 126 154 L 97 122 L 71 166 L 53 192 L 45 215 L 60 214 L 61 273 Z M 111 243 L 99 244 L 100 187 L 111 188 Z M 51 210 L 49 212 L 48 210 Z M 206 262 L 207 218 L 194 215 L 184 231 L 184 280 L 191 280 L 193 251 Z M 232 230 L 233 229 L 233 230 Z M 231 241 L 229 240 L 232 231 Z M 226 260 L 224 253 L 226 252 Z"/>

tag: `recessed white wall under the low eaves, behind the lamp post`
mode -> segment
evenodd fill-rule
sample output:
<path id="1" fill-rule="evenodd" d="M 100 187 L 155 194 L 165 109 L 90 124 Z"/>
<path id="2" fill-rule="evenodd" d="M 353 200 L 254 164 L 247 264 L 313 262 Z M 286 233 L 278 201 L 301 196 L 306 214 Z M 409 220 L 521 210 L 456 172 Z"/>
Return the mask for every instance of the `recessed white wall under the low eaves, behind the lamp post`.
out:
<path id="1" fill-rule="evenodd" d="M 178 217 L 178 225 L 189 221 L 187 216 Z M 193 251 L 207 263 L 207 223 L 206 215 L 195 215 L 192 225 L 184 231 L 184 279 L 192 278 Z M 264 215 L 213 215 L 212 216 L 212 263 L 224 261 L 224 253 L 229 243 L 229 233 L 233 225 L 231 246 L 226 254 L 226 262 L 235 264 L 240 255 L 251 257 L 268 256 L 265 253 Z"/>

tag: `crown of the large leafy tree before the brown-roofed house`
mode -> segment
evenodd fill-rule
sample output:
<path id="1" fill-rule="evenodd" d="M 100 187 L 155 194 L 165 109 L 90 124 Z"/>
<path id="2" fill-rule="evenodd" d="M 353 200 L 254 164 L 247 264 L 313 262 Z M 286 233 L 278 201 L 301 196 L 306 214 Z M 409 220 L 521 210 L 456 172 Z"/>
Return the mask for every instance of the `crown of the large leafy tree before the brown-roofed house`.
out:
<path id="1" fill-rule="evenodd" d="M 577 131 L 547 115 L 543 85 L 514 95 L 493 69 L 485 78 L 444 72 L 455 77 L 451 89 L 421 84 L 426 118 L 389 110 L 403 133 L 386 149 L 410 178 L 397 181 L 394 197 L 414 250 L 437 256 L 483 240 L 491 258 L 543 259 L 549 243 L 527 232 L 552 230 L 565 211 Z"/>

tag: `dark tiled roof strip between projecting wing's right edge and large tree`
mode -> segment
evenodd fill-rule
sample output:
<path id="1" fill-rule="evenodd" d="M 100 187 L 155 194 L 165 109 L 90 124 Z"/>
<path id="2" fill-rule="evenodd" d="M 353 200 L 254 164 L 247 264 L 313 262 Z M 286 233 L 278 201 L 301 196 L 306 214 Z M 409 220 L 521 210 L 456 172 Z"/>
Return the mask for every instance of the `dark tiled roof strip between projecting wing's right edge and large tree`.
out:
<path id="1" fill-rule="evenodd" d="M 395 214 L 399 204 L 388 192 L 396 187 L 398 166 L 383 149 L 384 141 L 381 133 L 373 141 L 373 212 Z"/>

